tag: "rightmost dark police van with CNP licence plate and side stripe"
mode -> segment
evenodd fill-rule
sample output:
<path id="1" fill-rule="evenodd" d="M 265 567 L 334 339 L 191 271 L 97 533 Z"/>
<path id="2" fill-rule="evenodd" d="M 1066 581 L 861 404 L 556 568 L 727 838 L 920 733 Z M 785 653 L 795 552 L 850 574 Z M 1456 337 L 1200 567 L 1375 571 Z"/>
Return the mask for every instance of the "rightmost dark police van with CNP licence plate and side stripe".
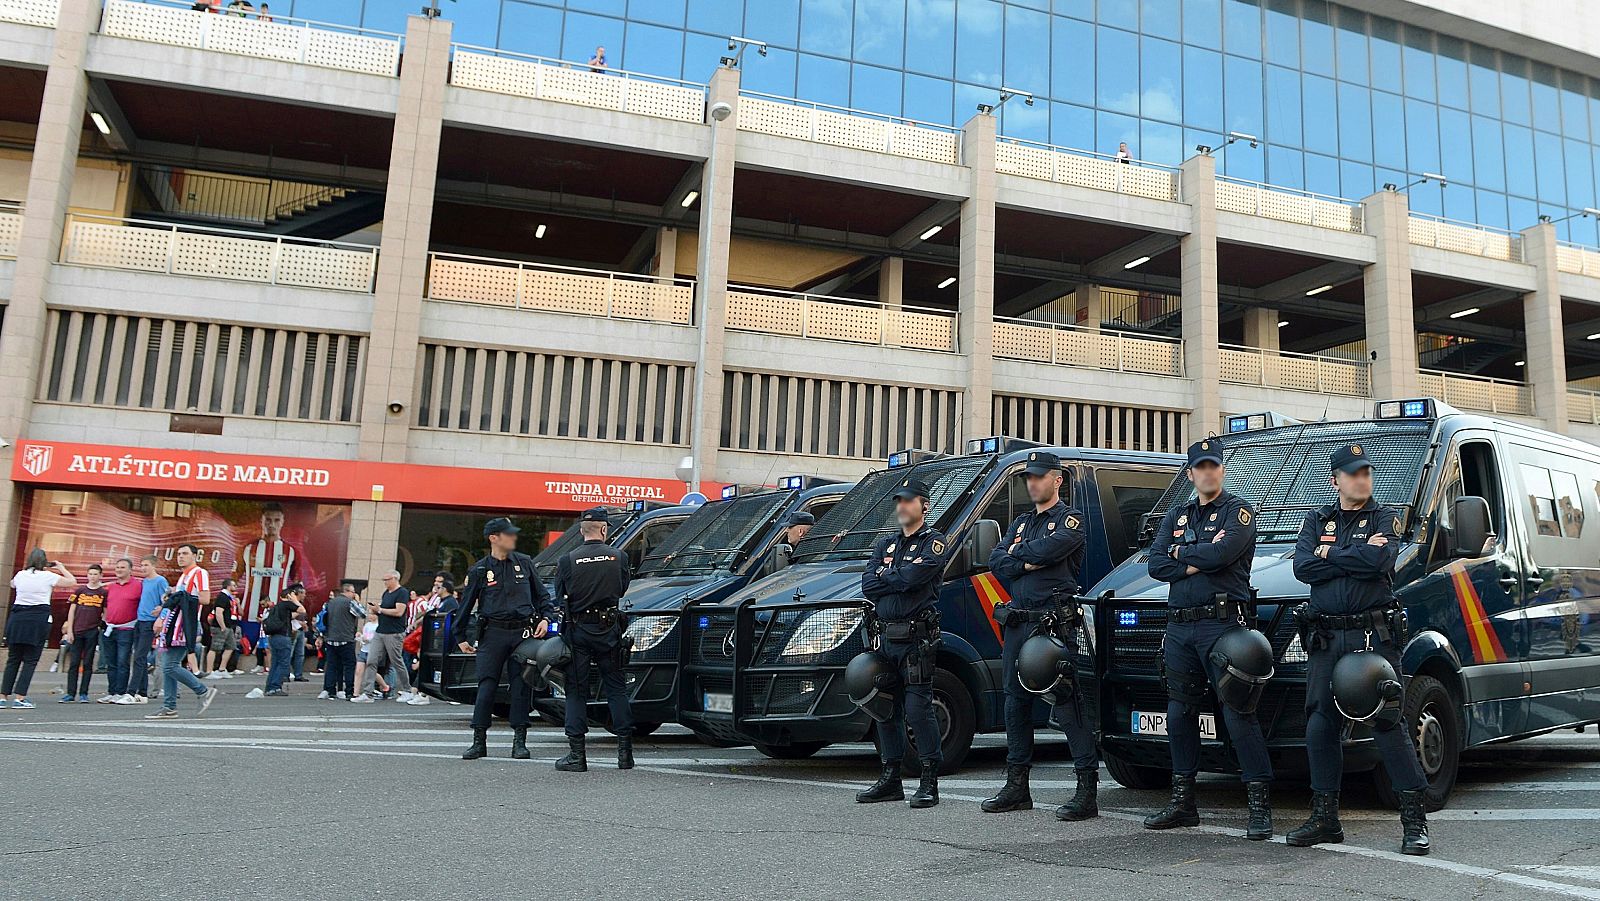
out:
<path id="1" fill-rule="evenodd" d="M 1274 767 L 1307 765 L 1307 658 L 1291 610 L 1309 589 L 1294 578 L 1293 551 L 1306 512 L 1333 503 L 1328 458 L 1346 445 L 1371 459 L 1374 501 L 1402 515 L 1402 714 L 1429 807 L 1445 803 L 1464 749 L 1600 720 L 1600 448 L 1432 398 L 1379 402 L 1373 419 L 1251 429 L 1270 419 L 1235 418 L 1221 442 L 1226 490 L 1256 507 L 1256 623 L 1277 669 L 1258 715 Z M 1179 474 L 1147 538 L 1192 490 Z M 1171 768 L 1157 674 L 1166 586 L 1149 578 L 1146 555 L 1090 591 L 1106 765 L 1139 789 L 1166 784 Z M 1202 704 L 1202 768 L 1230 771 L 1214 714 L 1211 698 Z M 1346 771 L 1381 770 L 1366 727 L 1347 727 L 1344 747 Z M 1387 775 L 1378 771 L 1374 786 L 1397 802 Z"/>

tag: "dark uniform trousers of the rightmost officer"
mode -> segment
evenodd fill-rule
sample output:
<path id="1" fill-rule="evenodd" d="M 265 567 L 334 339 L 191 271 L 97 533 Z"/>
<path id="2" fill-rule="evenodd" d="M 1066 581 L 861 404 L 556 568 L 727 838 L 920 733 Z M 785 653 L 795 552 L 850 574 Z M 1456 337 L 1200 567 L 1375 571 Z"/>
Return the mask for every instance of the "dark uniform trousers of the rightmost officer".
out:
<path id="1" fill-rule="evenodd" d="M 1333 629 L 1323 635 L 1326 645 L 1314 639 L 1315 650 L 1306 651 L 1310 656 L 1306 664 L 1306 755 L 1310 759 L 1310 789 L 1336 792 L 1344 776 L 1344 746 L 1339 741 L 1344 735 L 1344 714 L 1333 706 L 1333 664 L 1344 655 L 1365 648 L 1366 631 Z M 1395 653 L 1394 642 L 1382 642 L 1374 634 L 1373 650 L 1400 672 L 1400 655 Z M 1373 744 L 1378 746 L 1389 783 L 1397 792 L 1427 786 L 1411 733 L 1402 723 L 1373 720 Z"/>

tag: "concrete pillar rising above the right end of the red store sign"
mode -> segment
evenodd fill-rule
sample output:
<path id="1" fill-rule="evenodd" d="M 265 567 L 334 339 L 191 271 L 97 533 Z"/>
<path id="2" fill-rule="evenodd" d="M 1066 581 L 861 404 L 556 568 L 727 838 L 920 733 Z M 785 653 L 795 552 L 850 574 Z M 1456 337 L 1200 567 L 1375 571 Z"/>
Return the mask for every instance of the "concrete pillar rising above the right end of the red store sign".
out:
<path id="1" fill-rule="evenodd" d="M 739 136 L 739 70 L 712 72 L 706 109 L 726 104 L 720 120 L 710 117 L 710 144 L 701 168 L 699 240 L 694 266 L 694 323 L 699 325 L 699 363 L 694 366 L 694 410 L 690 453 L 694 474 L 690 483 L 717 477 L 717 448 L 722 446 L 722 357 L 728 325 L 728 250 L 733 243 L 733 154 Z"/>

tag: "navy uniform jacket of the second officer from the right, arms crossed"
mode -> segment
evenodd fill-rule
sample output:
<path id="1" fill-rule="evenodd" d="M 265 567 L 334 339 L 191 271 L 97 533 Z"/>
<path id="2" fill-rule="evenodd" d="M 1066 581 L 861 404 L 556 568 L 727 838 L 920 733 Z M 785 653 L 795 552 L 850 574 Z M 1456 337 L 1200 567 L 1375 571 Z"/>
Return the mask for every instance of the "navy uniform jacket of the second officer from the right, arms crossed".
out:
<path id="1" fill-rule="evenodd" d="M 1171 547 L 1178 546 L 1178 557 Z M 1170 583 L 1168 607 L 1205 607 L 1216 595 L 1248 602 L 1250 565 L 1256 559 L 1256 511 L 1222 491 L 1210 504 L 1200 498 L 1166 511 L 1155 530 L 1147 563 L 1150 578 Z M 1187 575 L 1189 567 L 1200 570 Z"/>

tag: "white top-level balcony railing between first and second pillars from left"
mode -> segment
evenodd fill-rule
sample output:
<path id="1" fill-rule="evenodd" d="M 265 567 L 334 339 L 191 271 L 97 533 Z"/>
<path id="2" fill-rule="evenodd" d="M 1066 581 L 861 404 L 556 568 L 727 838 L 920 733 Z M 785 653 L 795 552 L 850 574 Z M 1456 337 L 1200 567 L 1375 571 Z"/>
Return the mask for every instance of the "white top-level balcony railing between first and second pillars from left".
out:
<path id="1" fill-rule="evenodd" d="M 277 13 L 264 19 L 168 0 L 107 0 L 101 34 L 368 75 L 400 74 L 402 35 Z"/>

